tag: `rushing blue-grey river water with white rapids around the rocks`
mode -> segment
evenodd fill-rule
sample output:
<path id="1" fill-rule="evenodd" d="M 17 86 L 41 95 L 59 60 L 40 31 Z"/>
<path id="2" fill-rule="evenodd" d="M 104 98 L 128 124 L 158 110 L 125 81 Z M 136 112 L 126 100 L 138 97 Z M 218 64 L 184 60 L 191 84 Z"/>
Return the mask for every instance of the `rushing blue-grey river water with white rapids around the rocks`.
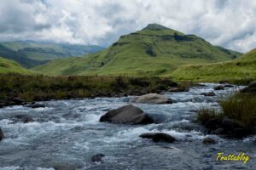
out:
<path id="1" fill-rule="evenodd" d="M 123 125 L 99 122 L 108 110 L 129 104 L 125 98 L 53 100 L 42 102 L 47 107 L 32 109 L 11 106 L 0 109 L 0 127 L 5 139 L 0 142 L 0 169 L 255 169 L 256 137 L 221 139 L 205 133 L 195 123 L 196 111 L 202 105 L 218 108 L 218 100 L 237 88 L 215 91 L 205 97 L 216 84 L 191 88 L 189 92 L 166 93 L 172 105 L 140 104 L 157 123 Z M 34 122 L 14 122 L 15 115 L 32 116 Z M 141 133 L 164 132 L 177 139 L 173 144 L 141 139 Z M 210 136 L 218 144 L 205 145 Z M 218 152 L 246 153 L 247 163 L 216 161 Z M 105 155 L 101 163 L 91 156 Z"/>

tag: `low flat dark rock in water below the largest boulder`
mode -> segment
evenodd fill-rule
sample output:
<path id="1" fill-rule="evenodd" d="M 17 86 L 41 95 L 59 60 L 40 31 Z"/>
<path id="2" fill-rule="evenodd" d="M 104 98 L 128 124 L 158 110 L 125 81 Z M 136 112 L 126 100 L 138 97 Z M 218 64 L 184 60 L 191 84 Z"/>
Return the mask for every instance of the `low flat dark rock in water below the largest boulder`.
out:
<path id="1" fill-rule="evenodd" d="M 171 135 L 166 133 L 143 133 L 140 135 L 140 137 L 143 139 L 152 139 L 154 142 L 163 141 L 172 143 L 176 140 Z"/>

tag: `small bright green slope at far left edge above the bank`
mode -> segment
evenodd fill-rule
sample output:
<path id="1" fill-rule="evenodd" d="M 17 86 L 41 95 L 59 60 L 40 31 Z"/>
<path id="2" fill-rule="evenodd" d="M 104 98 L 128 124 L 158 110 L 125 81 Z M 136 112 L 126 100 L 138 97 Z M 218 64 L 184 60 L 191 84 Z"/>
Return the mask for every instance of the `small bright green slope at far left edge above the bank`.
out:
<path id="1" fill-rule="evenodd" d="M 21 65 L 11 59 L 4 59 L 0 57 L 0 74 L 6 73 L 19 73 L 19 74 L 32 74 L 32 71 L 26 70 Z"/>

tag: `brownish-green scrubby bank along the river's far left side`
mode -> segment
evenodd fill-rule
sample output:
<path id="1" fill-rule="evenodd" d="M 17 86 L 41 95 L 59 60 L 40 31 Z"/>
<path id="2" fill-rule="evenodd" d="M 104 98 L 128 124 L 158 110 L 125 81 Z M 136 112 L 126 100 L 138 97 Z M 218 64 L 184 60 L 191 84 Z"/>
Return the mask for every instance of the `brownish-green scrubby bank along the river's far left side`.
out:
<path id="1" fill-rule="evenodd" d="M 20 98 L 36 101 L 141 95 L 176 85 L 175 82 L 160 77 L 47 77 L 1 74 L 0 100 Z"/>

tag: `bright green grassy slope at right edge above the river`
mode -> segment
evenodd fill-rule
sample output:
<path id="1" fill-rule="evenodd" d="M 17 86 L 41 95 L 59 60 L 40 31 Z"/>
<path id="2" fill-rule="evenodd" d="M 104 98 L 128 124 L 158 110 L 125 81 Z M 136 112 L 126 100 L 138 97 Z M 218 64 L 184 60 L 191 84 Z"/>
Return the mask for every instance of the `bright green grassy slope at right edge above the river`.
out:
<path id="1" fill-rule="evenodd" d="M 239 59 L 210 65 L 184 65 L 172 73 L 178 81 L 250 82 L 256 79 L 256 49 Z"/>

